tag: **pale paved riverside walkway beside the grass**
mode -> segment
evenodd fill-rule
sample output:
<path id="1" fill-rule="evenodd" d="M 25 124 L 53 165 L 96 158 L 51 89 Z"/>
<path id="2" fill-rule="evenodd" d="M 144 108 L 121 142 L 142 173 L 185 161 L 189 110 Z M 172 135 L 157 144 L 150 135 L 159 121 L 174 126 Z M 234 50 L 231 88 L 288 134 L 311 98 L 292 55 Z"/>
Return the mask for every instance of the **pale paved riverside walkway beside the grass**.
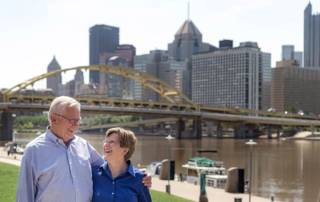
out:
<path id="1" fill-rule="evenodd" d="M 20 166 L 21 155 L 14 154 L 7 156 L 7 152 L 3 147 L 0 147 L 0 162 Z M 167 180 L 159 180 L 157 177 L 152 178 L 152 188 L 156 191 L 165 191 Z M 170 181 L 171 193 L 192 201 L 199 201 L 200 188 L 187 182 Z M 227 193 L 223 189 L 206 187 L 207 197 L 209 202 L 234 202 L 235 198 L 241 198 L 242 202 L 249 201 L 248 194 L 232 194 Z M 252 196 L 252 202 L 270 202 L 270 199 Z"/>

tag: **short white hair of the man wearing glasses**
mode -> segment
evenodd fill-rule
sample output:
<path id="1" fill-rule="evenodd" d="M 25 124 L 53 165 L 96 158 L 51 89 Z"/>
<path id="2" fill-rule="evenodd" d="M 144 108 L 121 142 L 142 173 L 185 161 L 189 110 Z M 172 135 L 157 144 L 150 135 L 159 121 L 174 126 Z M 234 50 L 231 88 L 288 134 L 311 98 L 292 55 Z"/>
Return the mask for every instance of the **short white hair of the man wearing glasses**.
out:
<path id="1" fill-rule="evenodd" d="M 68 96 L 60 96 L 56 97 L 50 104 L 49 113 L 48 113 L 48 121 L 51 125 L 51 114 L 57 113 L 62 114 L 66 107 L 77 107 L 80 110 L 80 103 L 72 97 Z"/>

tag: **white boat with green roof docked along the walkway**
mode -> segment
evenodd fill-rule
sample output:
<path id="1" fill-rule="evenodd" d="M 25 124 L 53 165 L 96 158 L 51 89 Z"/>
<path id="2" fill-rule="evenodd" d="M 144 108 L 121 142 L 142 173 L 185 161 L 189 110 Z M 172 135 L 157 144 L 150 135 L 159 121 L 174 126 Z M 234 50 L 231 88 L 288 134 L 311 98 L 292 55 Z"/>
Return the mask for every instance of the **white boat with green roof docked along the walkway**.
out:
<path id="1" fill-rule="evenodd" d="M 186 169 L 186 180 L 189 183 L 199 184 L 200 174 L 206 174 L 206 185 L 215 188 L 224 188 L 228 176 L 222 161 L 214 161 L 206 157 L 193 157 L 182 165 Z"/>

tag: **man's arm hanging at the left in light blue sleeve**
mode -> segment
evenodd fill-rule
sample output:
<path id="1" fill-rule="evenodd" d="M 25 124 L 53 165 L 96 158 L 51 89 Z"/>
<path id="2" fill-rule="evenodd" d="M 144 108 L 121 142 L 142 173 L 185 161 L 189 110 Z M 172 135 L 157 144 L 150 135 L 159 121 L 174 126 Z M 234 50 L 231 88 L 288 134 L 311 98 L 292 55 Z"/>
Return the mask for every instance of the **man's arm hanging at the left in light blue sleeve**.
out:
<path id="1" fill-rule="evenodd" d="M 20 166 L 19 184 L 16 193 L 16 202 L 34 202 L 36 182 L 32 168 L 31 150 L 26 149 Z"/>

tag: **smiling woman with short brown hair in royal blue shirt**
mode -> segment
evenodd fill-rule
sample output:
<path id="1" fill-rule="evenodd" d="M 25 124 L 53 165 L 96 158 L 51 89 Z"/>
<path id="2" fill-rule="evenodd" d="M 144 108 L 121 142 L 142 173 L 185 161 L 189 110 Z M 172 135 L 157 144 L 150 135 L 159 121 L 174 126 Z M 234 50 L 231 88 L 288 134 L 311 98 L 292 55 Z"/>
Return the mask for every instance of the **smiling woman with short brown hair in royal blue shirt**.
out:
<path id="1" fill-rule="evenodd" d="M 148 202 L 144 174 L 133 167 L 130 157 L 135 150 L 136 137 L 132 131 L 111 128 L 103 143 L 105 163 L 92 168 L 93 202 Z"/>

